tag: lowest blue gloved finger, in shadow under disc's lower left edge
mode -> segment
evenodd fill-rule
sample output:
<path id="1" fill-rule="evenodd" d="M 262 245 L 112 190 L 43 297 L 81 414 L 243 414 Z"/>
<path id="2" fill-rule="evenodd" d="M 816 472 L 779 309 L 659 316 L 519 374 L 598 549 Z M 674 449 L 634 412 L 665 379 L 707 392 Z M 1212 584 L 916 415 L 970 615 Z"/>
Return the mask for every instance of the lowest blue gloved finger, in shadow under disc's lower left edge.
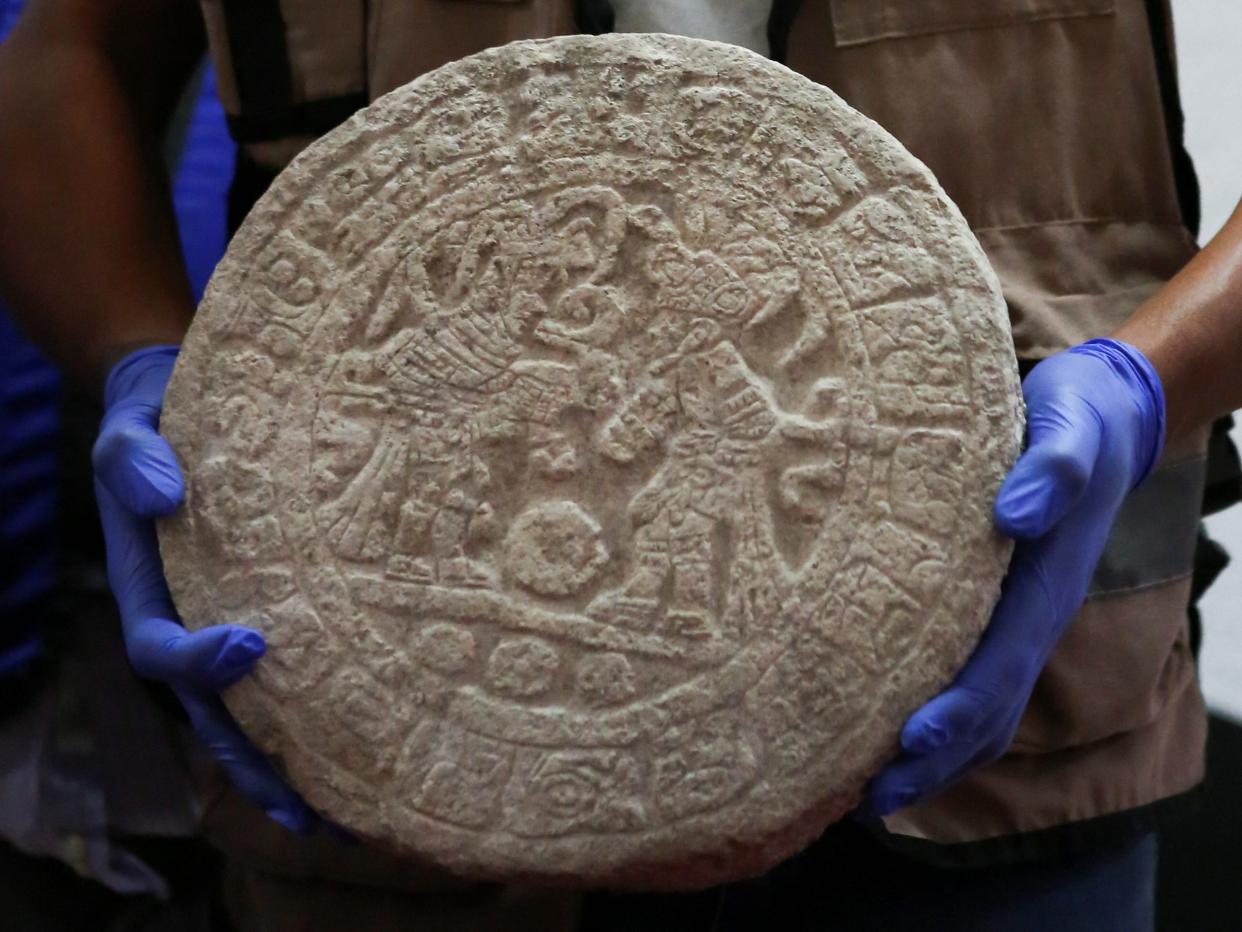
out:
<path id="1" fill-rule="evenodd" d="M 318 816 L 242 734 L 219 697 L 181 690 L 178 697 L 195 733 L 243 797 L 291 831 L 304 834 L 314 828 Z"/>

